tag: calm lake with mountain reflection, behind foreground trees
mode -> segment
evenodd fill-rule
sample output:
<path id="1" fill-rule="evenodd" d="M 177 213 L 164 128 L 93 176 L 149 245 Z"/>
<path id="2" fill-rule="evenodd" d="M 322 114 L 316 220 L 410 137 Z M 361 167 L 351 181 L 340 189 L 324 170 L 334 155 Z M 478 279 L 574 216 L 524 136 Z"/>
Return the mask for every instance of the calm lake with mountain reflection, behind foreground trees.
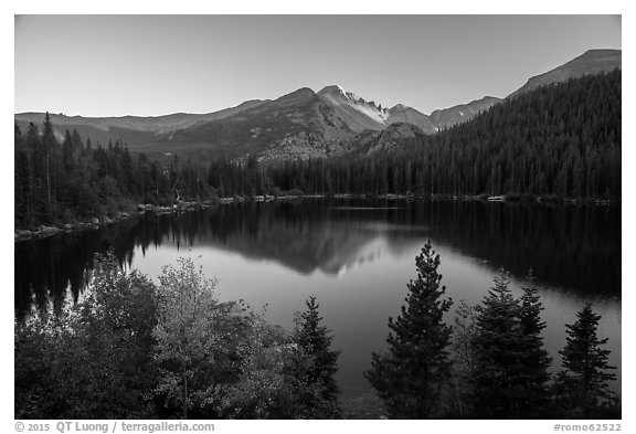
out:
<path id="1" fill-rule="evenodd" d="M 611 363 L 621 375 L 621 209 L 403 200 L 239 203 L 178 215 L 144 215 L 99 230 L 17 243 L 15 315 L 55 309 L 81 296 L 97 252 L 153 279 L 161 266 L 192 257 L 219 280 L 221 300 L 244 299 L 292 329 L 293 314 L 316 295 L 344 393 L 368 391 L 371 352 L 385 347 L 414 257 L 425 240 L 441 255 L 447 295 L 478 304 L 500 267 L 517 295 L 533 269 L 545 307 L 545 347 L 554 358 L 565 324 L 586 300 L 602 315 Z M 454 315 L 448 316 L 448 321 Z M 621 377 L 618 377 L 621 378 Z M 615 388 L 621 390 L 619 380 Z"/>

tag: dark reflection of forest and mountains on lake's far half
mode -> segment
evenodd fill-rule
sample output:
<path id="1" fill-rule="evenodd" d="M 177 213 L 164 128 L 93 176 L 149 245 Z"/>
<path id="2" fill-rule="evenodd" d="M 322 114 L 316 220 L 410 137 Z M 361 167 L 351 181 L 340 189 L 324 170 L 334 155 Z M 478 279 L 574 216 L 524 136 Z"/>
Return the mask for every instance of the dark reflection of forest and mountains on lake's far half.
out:
<path id="1" fill-rule="evenodd" d="M 15 315 L 77 299 L 96 253 L 132 265 L 134 251 L 216 244 L 298 273 L 337 274 L 378 234 L 394 248 L 426 237 L 550 286 L 621 299 L 621 210 L 483 202 L 305 200 L 141 215 L 98 230 L 15 243 Z M 406 276 L 405 276 L 406 277 Z M 68 294 L 68 292 L 71 294 Z"/>

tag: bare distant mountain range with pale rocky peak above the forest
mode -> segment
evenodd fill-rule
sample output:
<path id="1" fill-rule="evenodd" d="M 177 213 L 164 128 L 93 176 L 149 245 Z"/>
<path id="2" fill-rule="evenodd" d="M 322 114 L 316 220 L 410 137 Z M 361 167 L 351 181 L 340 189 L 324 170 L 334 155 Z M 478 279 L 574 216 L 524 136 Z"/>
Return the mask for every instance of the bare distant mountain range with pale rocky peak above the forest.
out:
<path id="1" fill-rule="evenodd" d="M 591 50 L 544 74 L 531 77 L 507 98 L 539 86 L 586 74 L 621 68 L 621 50 Z M 262 160 L 341 155 L 352 150 L 373 151 L 432 135 L 468 121 L 505 99 L 481 99 L 425 115 L 398 104 L 391 108 L 365 100 L 332 85 L 314 92 L 304 87 L 274 100 L 247 100 L 236 107 L 209 114 L 172 114 L 156 117 L 82 117 L 51 115 L 56 134 L 77 129 L 102 145 L 123 140 L 131 151 L 155 155 L 223 155 L 240 158 L 256 154 Z M 44 114 L 17 114 L 21 128 L 41 124 Z"/>

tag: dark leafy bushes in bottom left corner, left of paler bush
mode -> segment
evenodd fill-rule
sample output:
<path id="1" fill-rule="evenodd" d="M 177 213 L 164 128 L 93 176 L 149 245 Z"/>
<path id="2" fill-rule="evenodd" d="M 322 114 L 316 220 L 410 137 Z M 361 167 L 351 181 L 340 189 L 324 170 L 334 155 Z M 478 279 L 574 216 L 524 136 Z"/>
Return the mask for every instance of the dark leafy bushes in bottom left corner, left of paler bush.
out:
<path id="1" fill-rule="evenodd" d="M 15 324 L 15 417 L 147 417 L 153 284 L 99 257 L 83 300 Z"/>

